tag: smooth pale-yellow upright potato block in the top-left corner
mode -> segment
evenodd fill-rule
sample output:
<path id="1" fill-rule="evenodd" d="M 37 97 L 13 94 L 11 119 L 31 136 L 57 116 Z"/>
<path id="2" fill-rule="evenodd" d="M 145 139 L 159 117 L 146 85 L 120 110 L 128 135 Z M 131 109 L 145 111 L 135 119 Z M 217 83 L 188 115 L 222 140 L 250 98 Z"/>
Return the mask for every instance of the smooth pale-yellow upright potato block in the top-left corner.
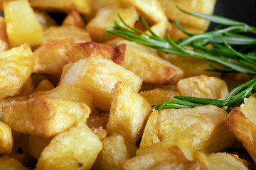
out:
<path id="1" fill-rule="evenodd" d="M 4 3 L 4 18 L 11 47 L 24 43 L 32 48 L 42 40 L 42 27 L 28 1 Z"/>

